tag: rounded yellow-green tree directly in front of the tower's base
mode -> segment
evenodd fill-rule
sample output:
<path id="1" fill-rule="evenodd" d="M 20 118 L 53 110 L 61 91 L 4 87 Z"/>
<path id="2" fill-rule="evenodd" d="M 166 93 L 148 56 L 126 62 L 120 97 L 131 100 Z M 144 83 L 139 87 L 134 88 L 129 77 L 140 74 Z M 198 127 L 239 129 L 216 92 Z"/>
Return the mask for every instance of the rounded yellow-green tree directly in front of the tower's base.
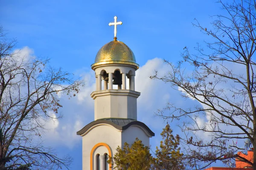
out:
<path id="1" fill-rule="evenodd" d="M 129 146 L 125 142 L 123 148 L 117 147 L 116 154 L 108 163 L 117 170 L 150 170 L 152 156 L 149 147 L 145 146 L 141 140 L 136 138 L 135 142 Z"/>

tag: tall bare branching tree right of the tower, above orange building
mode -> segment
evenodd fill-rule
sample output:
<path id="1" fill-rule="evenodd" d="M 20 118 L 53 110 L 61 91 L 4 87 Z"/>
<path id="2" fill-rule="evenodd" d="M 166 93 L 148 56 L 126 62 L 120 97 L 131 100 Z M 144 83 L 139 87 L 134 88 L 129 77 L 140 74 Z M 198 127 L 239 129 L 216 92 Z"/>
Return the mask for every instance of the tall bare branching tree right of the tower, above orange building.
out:
<path id="1" fill-rule="evenodd" d="M 197 20 L 194 23 L 212 42 L 198 44 L 196 54 L 185 47 L 177 64 L 164 60 L 170 68 L 166 75 L 156 71 L 151 76 L 171 83 L 185 99 L 198 104 L 179 108 L 169 103 L 159 115 L 183 121 L 180 127 L 185 132 L 187 154 L 183 153 L 195 169 L 240 157 L 256 170 L 256 149 L 252 149 L 253 162 L 237 155 L 238 151 L 246 153 L 250 143 L 256 148 L 256 2 L 218 3 L 225 14 L 212 16 L 212 28 L 201 26 Z"/>

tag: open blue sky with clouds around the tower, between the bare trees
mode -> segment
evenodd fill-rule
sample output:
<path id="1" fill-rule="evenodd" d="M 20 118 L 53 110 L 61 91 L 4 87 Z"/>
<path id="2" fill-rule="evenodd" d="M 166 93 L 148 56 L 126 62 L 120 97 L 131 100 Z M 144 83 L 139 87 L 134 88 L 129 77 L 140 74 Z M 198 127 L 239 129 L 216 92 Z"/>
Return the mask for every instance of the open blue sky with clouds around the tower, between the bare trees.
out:
<path id="1" fill-rule="evenodd" d="M 90 65 L 97 51 L 113 40 L 113 26 L 108 26 L 113 17 L 123 22 L 117 27 L 118 40 L 132 49 L 140 65 L 136 79 L 136 90 L 142 93 L 138 119 L 156 133 L 151 139 L 154 150 L 165 126 L 154 112 L 167 101 L 181 106 L 195 101 L 184 101 L 168 84 L 148 77 L 155 69 L 161 73 L 168 70 L 161 59 L 177 62 L 185 46 L 193 49 L 197 42 L 208 39 L 192 26 L 194 18 L 208 28 L 210 15 L 223 12 L 220 4 L 209 0 L 2 0 L 0 4 L 0 25 L 8 37 L 17 39 L 16 48 L 28 55 L 48 57 L 50 65 L 86 81 L 76 98 L 61 98 L 64 118 L 53 125 L 49 122 L 53 130 L 44 135 L 45 144 L 54 147 L 58 155 L 73 156 L 71 170 L 82 166 L 81 137 L 76 136 L 76 130 L 93 121 L 90 93 L 95 79 Z M 171 124 L 174 133 L 179 132 L 176 124 Z"/>

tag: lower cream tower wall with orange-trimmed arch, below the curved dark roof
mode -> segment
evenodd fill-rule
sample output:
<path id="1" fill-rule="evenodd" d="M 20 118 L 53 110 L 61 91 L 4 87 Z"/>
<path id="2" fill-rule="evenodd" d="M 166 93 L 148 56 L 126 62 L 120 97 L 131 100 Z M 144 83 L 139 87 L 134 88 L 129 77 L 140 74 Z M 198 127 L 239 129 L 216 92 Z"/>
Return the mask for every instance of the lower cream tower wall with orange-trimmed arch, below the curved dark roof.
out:
<path id="1" fill-rule="evenodd" d="M 149 138 L 151 137 L 150 134 L 143 130 L 143 128 L 136 125 L 122 131 L 116 129 L 111 125 L 106 124 L 93 126 L 81 136 L 83 136 L 83 170 L 96 170 L 96 156 L 98 154 L 99 156 L 101 156 L 100 165 L 104 167 L 105 161 L 103 159 L 105 153 L 113 157 L 116 153 L 116 148 L 118 146 L 123 147 L 123 144 L 125 142 L 127 142 L 128 144 L 133 144 L 136 138 L 139 138 L 145 146 L 149 147 Z M 108 146 L 111 150 L 111 153 L 109 153 Z M 91 168 L 91 165 L 93 166 L 93 168 Z M 108 170 L 110 170 L 109 167 Z"/>

